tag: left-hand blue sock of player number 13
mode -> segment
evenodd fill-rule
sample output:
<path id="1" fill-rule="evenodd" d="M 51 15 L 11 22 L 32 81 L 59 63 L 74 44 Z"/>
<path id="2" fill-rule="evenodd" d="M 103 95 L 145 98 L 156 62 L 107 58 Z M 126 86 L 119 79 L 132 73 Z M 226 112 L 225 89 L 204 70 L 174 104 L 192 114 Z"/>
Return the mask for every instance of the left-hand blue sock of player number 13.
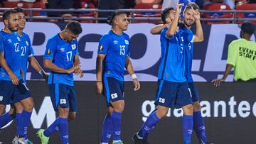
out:
<path id="1" fill-rule="evenodd" d="M 112 134 L 112 119 L 106 115 L 102 125 L 101 143 L 108 143 Z"/>

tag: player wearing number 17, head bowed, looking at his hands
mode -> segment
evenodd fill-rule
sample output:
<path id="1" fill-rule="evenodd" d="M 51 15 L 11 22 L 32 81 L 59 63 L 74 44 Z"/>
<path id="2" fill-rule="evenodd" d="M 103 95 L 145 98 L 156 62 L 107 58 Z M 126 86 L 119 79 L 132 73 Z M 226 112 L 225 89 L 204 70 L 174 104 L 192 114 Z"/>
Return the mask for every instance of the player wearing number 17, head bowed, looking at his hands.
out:
<path id="1" fill-rule="evenodd" d="M 80 69 L 78 38 L 82 28 L 78 21 L 70 21 L 65 29 L 53 35 L 46 45 L 43 65 L 50 70 L 48 87 L 50 99 L 58 118 L 46 130 L 38 130 L 42 144 L 47 144 L 49 136 L 59 131 L 62 144 L 68 144 L 68 119 L 76 116 L 77 96 L 74 89 L 73 73 L 83 76 Z"/>

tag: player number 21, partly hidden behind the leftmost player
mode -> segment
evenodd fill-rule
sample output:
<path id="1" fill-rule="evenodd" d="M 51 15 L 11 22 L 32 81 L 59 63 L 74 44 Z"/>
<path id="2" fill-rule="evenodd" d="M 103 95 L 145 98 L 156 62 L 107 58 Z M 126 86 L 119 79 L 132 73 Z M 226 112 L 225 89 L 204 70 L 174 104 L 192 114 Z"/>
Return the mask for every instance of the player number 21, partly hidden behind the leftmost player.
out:
<path id="1" fill-rule="evenodd" d="M 18 35 L 21 38 L 21 42 L 19 43 L 19 47 L 21 48 L 21 65 L 22 65 L 22 70 L 23 70 L 23 80 L 24 82 L 26 82 L 26 70 L 28 67 L 28 62 L 31 64 L 31 66 L 38 71 L 39 74 L 42 75 L 42 77 L 44 77 L 44 79 L 47 80 L 48 78 L 48 74 L 46 74 L 46 72 L 44 72 L 44 70 L 42 69 L 42 67 L 39 65 L 38 61 L 36 60 L 35 57 L 33 57 L 33 48 L 31 47 L 31 40 L 28 37 L 28 35 L 26 33 L 23 33 L 23 29 L 26 26 L 26 18 L 25 18 L 25 14 L 23 12 L 23 9 L 21 8 L 15 8 L 14 10 L 16 10 L 18 12 Z M 20 102 L 17 102 L 16 104 L 14 104 L 15 108 L 16 108 L 16 123 L 18 123 L 21 118 L 21 113 L 23 111 L 23 106 Z M 17 127 L 18 129 L 18 127 Z M 24 138 L 28 139 L 28 136 L 25 134 Z M 14 140 L 12 141 L 13 144 L 18 144 L 18 136 L 16 135 Z M 30 140 L 28 140 L 27 143 L 32 143 Z"/>

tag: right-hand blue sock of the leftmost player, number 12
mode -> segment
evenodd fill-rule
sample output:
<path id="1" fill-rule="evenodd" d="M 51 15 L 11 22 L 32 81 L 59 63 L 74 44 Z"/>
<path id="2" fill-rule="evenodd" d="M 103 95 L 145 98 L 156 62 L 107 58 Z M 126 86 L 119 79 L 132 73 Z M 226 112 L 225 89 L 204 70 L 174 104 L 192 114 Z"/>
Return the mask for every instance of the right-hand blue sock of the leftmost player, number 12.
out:
<path id="1" fill-rule="evenodd" d="M 27 135 L 28 124 L 31 118 L 31 112 L 23 110 L 18 120 L 18 135 L 25 137 Z"/>

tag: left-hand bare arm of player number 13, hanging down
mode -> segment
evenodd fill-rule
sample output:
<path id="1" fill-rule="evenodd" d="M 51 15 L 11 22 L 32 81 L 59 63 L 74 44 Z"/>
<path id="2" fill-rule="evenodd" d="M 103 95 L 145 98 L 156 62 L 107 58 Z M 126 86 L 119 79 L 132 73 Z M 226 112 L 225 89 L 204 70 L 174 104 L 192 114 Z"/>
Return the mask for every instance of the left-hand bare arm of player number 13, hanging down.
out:
<path id="1" fill-rule="evenodd" d="M 96 94 L 102 94 L 103 91 L 103 85 L 102 85 L 102 65 L 103 60 L 105 59 L 105 55 L 98 54 L 97 60 L 96 60 Z"/>

